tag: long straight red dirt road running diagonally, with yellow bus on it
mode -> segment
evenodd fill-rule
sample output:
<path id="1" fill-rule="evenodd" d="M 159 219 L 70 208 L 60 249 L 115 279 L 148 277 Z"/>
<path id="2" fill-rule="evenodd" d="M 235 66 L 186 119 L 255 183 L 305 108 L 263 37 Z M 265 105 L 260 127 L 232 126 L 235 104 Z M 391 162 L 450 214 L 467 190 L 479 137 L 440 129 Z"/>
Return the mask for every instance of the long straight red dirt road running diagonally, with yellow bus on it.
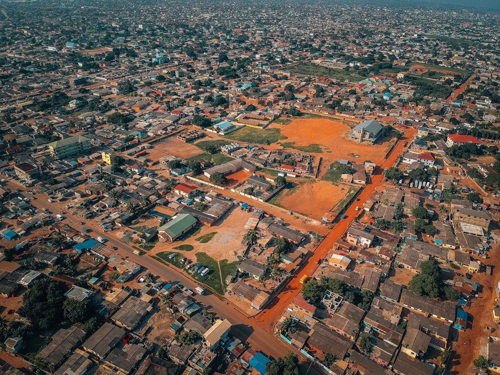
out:
<path id="1" fill-rule="evenodd" d="M 396 144 L 392 153 L 388 156 L 388 158 L 383 162 L 383 164 L 378 169 L 376 175 L 372 177 L 371 182 L 365 186 L 365 188 L 358 195 L 359 202 L 356 204 L 352 204 L 347 208 L 345 214 L 347 216 L 346 219 L 340 220 L 333 229 L 328 233 L 328 235 L 324 238 L 324 240 L 317 246 L 314 251 L 314 255 L 312 255 L 304 264 L 304 266 L 298 271 L 292 279 L 288 282 L 288 285 L 283 289 L 283 291 L 272 301 L 268 308 L 264 309 L 256 316 L 257 324 L 259 324 L 262 328 L 272 331 L 273 325 L 276 321 L 279 320 L 281 314 L 288 306 L 288 304 L 292 301 L 295 295 L 300 291 L 300 277 L 303 274 L 311 275 L 317 268 L 317 264 L 315 261 L 318 258 L 324 258 L 326 254 L 331 250 L 331 247 L 335 243 L 335 241 L 342 236 L 344 231 L 348 228 L 350 223 L 354 220 L 354 217 L 360 213 L 361 211 L 356 211 L 355 206 L 361 206 L 371 195 L 371 193 L 375 190 L 377 184 L 383 178 L 383 169 L 388 168 L 394 164 L 396 158 L 402 154 L 404 147 L 404 141 L 409 141 L 413 139 L 416 133 L 416 129 L 406 129 L 405 135 L 401 137 L 399 142 Z"/>

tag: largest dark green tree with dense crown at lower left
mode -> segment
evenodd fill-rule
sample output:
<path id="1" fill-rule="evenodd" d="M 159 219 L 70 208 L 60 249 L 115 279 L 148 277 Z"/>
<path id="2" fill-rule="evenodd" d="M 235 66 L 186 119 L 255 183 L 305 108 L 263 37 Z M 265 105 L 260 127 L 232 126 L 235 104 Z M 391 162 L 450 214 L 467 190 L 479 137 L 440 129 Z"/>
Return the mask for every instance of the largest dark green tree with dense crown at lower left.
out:
<path id="1" fill-rule="evenodd" d="M 67 287 L 62 282 L 47 277 L 36 280 L 22 295 L 22 305 L 17 312 L 28 318 L 35 329 L 53 327 L 62 320 L 66 291 Z"/>

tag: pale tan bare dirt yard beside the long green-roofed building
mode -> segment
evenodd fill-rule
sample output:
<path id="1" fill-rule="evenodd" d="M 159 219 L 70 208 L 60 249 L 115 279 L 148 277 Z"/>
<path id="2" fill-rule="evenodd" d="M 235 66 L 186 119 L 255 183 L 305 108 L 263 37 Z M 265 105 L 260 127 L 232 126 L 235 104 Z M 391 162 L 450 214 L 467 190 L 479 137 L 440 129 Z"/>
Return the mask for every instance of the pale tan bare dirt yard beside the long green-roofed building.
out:
<path id="1" fill-rule="evenodd" d="M 242 211 L 234 207 L 223 216 L 223 220 L 219 219 L 215 225 L 208 227 L 202 226 L 199 233 L 191 235 L 184 241 L 174 242 L 158 242 L 154 246 L 154 253 L 160 251 L 176 251 L 182 253 L 189 259 L 196 260 L 194 256 L 196 252 L 205 252 L 215 260 L 227 259 L 228 262 L 238 260 L 238 255 L 242 255 L 245 246 L 241 244 L 241 239 L 244 234 L 244 225 L 252 213 Z M 216 232 L 215 235 L 206 243 L 196 241 L 196 238 L 204 234 Z M 191 251 L 181 251 L 173 249 L 173 247 L 181 244 L 190 244 L 194 247 Z"/>

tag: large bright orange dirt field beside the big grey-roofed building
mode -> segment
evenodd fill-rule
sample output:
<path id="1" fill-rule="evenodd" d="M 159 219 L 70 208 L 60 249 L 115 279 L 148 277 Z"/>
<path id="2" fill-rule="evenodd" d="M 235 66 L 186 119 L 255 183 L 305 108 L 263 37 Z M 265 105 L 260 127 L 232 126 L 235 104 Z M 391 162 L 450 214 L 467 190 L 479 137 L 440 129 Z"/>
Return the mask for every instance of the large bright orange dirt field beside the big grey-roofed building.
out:
<path id="1" fill-rule="evenodd" d="M 321 156 L 333 160 L 339 157 L 358 162 L 369 159 L 380 165 L 387 150 L 387 143 L 368 145 L 347 140 L 349 126 L 327 118 L 297 118 L 280 129 L 281 135 L 287 137 L 285 142 L 295 142 L 295 146 L 320 144 L 325 151 Z M 349 156 L 349 153 L 359 157 Z"/>

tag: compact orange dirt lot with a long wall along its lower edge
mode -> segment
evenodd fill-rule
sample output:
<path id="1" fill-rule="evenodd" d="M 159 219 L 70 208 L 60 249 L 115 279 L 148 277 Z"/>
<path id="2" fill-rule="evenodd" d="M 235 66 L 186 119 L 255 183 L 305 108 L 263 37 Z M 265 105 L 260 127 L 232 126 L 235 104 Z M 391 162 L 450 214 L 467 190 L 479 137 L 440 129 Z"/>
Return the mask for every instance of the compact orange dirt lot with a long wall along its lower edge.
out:
<path id="1" fill-rule="evenodd" d="M 348 191 L 349 187 L 346 185 L 335 186 L 328 181 L 311 181 L 297 186 L 291 193 L 284 190 L 278 204 L 292 212 L 321 220 L 323 214 L 333 208 Z"/>

